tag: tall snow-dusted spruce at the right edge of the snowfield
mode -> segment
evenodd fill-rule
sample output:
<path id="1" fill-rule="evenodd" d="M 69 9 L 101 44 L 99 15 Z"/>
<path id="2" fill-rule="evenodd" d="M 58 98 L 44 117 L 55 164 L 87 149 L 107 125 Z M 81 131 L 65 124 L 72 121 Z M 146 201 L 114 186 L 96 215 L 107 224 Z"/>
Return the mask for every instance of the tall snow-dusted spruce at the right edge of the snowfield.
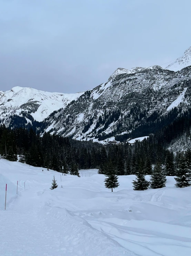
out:
<path id="1" fill-rule="evenodd" d="M 177 173 L 176 173 L 176 187 L 188 187 L 191 184 L 191 173 L 188 169 L 187 162 L 183 153 L 179 156 Z"/>

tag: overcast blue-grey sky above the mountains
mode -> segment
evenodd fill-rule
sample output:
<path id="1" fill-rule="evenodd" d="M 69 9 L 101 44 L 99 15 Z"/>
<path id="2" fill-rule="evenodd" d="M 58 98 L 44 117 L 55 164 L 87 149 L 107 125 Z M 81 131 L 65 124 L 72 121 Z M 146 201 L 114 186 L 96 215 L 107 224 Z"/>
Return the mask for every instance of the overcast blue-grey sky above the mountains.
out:
<path id="1" fill-rule="evenodd" d="M 191 46 L 190 0 L 0 0 L 0 90 L 77 92 Z"/>

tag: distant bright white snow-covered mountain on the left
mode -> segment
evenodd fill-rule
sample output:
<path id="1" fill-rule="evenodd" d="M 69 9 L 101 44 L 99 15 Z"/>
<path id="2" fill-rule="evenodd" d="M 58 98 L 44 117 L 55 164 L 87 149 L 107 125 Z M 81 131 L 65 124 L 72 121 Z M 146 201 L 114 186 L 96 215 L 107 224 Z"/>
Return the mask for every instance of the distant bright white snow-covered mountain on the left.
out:
<path id="1" fill-rule="evenodd" d="M 13 87 L 9 91 L 0 91 L 0 118 L 31 111 L 37 121 L 42 121 L 53 111 L 66 107 L 83 92 L 63 94 L 58 92 L 39 91 L 28 87 Z"/>

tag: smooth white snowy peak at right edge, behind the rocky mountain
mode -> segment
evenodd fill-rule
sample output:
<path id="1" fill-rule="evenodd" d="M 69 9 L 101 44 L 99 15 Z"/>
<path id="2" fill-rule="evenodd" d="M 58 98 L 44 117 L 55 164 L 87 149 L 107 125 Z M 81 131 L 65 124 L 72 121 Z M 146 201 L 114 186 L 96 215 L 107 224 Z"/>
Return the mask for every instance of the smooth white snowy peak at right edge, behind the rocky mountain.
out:
<path id="1" fill-rule="evenodd" d="M 166 67 L 166 69 L 178 71 L 185 67 L 191 66 L 191 47 L 189 47 L 184 55 Z"/>

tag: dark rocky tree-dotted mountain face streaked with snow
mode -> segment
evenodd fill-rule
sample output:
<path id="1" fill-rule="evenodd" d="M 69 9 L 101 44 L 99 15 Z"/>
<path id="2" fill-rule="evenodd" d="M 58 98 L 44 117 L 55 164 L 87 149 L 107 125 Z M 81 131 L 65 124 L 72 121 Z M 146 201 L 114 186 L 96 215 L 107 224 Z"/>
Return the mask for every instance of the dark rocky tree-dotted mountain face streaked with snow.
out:
<path id="1" fill-rule="evenodd" d="M 156 66 L 122 73 L 46 118 L 46 131 L 78 140 L 111 140 L 149 118 L 155 122 L 174 107 L 188 108 L 190 96 L 191 67 L 174 72 Z"/>

